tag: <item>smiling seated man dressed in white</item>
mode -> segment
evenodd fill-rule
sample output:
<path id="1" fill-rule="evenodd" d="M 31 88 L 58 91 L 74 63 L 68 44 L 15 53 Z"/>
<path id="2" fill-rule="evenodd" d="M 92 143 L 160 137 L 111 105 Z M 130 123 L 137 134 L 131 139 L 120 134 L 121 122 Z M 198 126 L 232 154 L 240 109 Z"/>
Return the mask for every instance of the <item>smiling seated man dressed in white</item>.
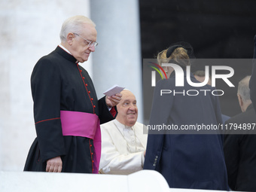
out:
<path id="1" fill-rule="evenodd" d="M 136 97 L 130 90 L 123 90 L 121 93 L 123 96 L 117 105 L 116 119 L 100 126 L 100 173 L 128 175 L 143 169 L 148 135 L 143 134 L 143 124 L 136 122 Z"/>

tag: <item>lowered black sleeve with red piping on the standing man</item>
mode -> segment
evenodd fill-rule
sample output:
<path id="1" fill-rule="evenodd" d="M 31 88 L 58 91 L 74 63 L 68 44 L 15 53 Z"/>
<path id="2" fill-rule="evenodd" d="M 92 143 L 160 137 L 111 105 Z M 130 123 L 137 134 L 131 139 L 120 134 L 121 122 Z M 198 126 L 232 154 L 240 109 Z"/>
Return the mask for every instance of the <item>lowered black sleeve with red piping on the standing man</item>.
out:
<path id="1" fill-rule="evenodd" d="M 43 162 L 66 154 L 60 122 L 59 76 L 49 59 L 40 59 L 31 76 L 35 129 Z"/>

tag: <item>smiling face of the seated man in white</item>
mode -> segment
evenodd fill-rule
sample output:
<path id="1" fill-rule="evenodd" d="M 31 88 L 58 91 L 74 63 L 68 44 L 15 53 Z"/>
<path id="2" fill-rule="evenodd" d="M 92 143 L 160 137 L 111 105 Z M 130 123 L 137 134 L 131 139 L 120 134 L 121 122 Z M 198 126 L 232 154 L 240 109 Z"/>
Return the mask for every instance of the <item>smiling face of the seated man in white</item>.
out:
<path id="1" fill-rule="evenodd" d="M 136 97 L 130 90 L 123 90 L 121 93 L 123 96 L 117 105 L 118 114 L 116 119 L 126 126 L 133 126 L 138 118 Z"/>

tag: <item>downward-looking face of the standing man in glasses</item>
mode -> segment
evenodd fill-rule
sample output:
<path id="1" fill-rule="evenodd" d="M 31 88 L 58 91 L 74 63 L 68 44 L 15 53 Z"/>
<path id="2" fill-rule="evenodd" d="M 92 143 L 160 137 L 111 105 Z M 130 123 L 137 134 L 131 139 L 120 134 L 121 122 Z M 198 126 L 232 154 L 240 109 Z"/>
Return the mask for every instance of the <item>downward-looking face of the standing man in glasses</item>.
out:
<path id="1" fill-rule="evenodd" d="M 88 60 L 90 53 L 95 51 L 95 47 L 89 47 L 88 41 L 96 41 L 97 32 L 94 26 L 90 24 L 84 24 L 84 28 L 81 34 L 75 35 L 70 32 L 67 36 L 67 42 L 69 44 L 69 51 L 79 62 L 85 62 Z M 81 38 L 83 37 L 83 38 Z"/>

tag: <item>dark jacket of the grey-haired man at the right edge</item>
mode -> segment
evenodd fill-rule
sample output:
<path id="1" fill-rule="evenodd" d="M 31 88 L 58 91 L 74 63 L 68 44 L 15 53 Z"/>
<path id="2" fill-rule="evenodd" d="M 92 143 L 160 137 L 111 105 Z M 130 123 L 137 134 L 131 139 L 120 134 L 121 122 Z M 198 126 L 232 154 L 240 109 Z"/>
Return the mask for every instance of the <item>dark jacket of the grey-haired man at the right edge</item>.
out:
<path id="1" fill-rule="evenodd" d="M 252 105 L 245 112 L 226 121 L 230 126 L 250 124 L 256 130 L 256 114 Z M 246 131 L 246 130 L 245 130 Z M 224 137 L 224 155 L 227 165 L 228 184 L 232 190 L 256 191 L 256 135 L 226 134 Z"/>

